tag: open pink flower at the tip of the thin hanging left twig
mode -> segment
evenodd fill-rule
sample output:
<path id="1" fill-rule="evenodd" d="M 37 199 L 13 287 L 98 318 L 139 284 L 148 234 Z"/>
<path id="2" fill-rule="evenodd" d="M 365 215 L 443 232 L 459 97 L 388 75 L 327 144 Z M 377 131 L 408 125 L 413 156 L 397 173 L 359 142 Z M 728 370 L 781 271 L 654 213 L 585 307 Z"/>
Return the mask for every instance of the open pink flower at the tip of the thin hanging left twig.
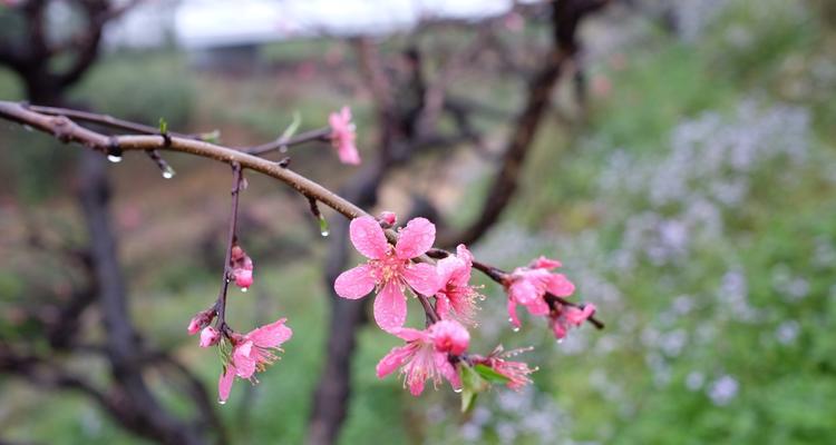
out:
<path id="1" fill-rule="evenodd" d="M 284 325 L 285 320 L 286 318 L 280 318 L 244 336 L 233 338 L 231 359 L 225 364 L 224 372 L 217 382 L 221 403 L 230 397 L 235 376 L 254 380 L 253 375 L 256 372 L 263 372 L 268 365 L 279 358 L 271 349 L 281 352 L 279 346 L 293 335 L 293 332 Z"/>

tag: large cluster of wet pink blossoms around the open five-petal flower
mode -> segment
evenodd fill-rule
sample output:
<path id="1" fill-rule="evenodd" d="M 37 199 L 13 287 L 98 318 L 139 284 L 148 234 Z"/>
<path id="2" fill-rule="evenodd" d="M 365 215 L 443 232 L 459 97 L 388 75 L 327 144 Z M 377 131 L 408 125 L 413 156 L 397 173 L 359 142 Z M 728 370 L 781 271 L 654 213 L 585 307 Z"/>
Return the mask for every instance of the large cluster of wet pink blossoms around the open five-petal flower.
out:
<path id="1" fill-rule="evenodd" d="M 484 298 L 470 285 L 474 257 L 467 247 L 459 245 L 455 255 L 431 265 L 425 255 L 435 243 L 435 225 L 425 218 L 411 219 L 397 231 L 392 245 L 383 228 L 393 227 L 396 221 L 395 214 L 389 211 L 377 219 L 370 216 L 353 219 L 349 230 L 351 243 L 368 260 L 342 273 L 334 281 L 334 290 L 342 298 L 358 299 L 373 290 L 378 326 L 406 342 L 380 360 L 378 377 L 400 368 L 404 385 L 412 395 L 421 394 L 427 380 L 437 387 L 446 379 L 455 390 L 465 393 L 480 390 L 479 385 L 486 382 L 502 382 L 514 389 L 529 383 L 533 369 L 508 359 L 518 352 L 503 353 L 498 347 L 487 357 L 467 352 L 470 334 L 465 325 L 474 325 L 476 303 Z M 533 315 L 548 316 L 557 338 L 565 337 L 568 326 L 580 325 L 593 315 L 592 305 L 577 308 L 562 300 L 574 291 L 574 285 L 565 276 L 551 271 L 560 266 L 556 260 L 541 257 L 529 267 L 503 275 L 515 328 L 519 326 L 516 305 L 524 305 Z M 404 327 L 408 294 L 425 305 L 428 327 L 424 330 Z"/>

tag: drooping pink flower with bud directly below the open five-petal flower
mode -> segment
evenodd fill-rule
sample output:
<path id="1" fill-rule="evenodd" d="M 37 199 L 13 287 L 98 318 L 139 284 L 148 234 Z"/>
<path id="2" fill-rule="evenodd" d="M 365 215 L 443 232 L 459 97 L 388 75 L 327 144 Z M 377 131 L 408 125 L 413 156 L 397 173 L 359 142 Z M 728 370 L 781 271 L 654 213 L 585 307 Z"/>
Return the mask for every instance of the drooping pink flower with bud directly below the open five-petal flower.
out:
<path id="1" fill-rule="evenodd" d="M 443 379 L 447 379 L 454 389 L 461 387 L 461 380 L 456 367 L 450 363 L 449 354 L 458 355 L 467 349 L 470 335 L 464 326 L 453 320 L 443 320 L 426 330 L 399 328 L 392 334 L 407 344 L 392 348 L 378 363 L 378 378 L 383 378 L 400 368 L 400 373 L 406 376 L 404 386 L 408 386 L 414 396 L 424 392 L 427 379 L 432 380 L 436 387 Z"/>

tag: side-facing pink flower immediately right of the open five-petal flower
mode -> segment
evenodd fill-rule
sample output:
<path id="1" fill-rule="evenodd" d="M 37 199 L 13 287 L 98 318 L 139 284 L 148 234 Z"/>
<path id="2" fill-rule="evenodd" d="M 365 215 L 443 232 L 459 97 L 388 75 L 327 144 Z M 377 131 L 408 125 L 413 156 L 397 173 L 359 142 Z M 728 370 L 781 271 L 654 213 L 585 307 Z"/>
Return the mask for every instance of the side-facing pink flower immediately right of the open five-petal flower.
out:
<path id="1" fill-rule="evenodd" d="M 457 255 L 450 255 L 436 264 L 440 289 L 436 293 L 436 310 L 441 318 L 453 317 L 472 324 L 479 293 L 470 286 L 473 255 L 464 244 L 458 245 Z"/>

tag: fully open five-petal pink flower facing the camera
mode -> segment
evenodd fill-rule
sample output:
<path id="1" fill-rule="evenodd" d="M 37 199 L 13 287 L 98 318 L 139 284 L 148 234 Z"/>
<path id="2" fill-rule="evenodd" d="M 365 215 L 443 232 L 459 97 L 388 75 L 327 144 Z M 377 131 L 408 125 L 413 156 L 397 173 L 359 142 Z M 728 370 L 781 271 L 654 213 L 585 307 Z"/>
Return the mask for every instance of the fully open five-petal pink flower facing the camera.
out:
<path id="1" fill-rule="evenodd" d="M 375 218 L 354 218 L 350 225 L 351 243 L 369 258 L 363 265 L 340 274 L 334 290 L 342 298 L 357 299 L 377 289 L 375 320 L 383 330 L 404 326 L 407 319 L 406 287 L 421 295 L 434 295 L 438 289 L 436 268 L 411 261 L 432 247 L 436 226 L 425 218 L 415 218 L 400 230 L 392 247 Z"/>

